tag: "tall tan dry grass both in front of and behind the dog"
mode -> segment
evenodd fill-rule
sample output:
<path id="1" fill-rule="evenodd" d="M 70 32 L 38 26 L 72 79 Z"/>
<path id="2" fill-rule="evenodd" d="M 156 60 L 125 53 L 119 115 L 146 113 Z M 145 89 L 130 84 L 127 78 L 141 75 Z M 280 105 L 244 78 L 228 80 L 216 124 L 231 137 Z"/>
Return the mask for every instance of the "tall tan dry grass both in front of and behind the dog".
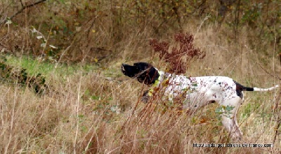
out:
<path id="1" fill-rule="evenodd" d="M 280 84 L 258 64 L 263 60 L 239 42 L 224 40 L 209 27 L 195 41 L 207 57 L 190 66 L 188 75 L 230 76 L 244 85 Z M 200 42 L 199 42 L 200 41 Z M 244 42 L 245 41 L 245 42 Z M 243 46 L 243 47 L 240 47 Z M 238 50 L 240 48 L 240 50 Z M 126 52 L 124 54 L 126 55 Z M 268 51 L 270 52 L 270 51 Z M 127 52 L 127 54 L 129 54 Z M 151 59 L 143 59 L 150 61 Z M 122 58 L 120 61 L 123 61 Z M 152 62 L 157 65 L 157 60 Z M 228 144 L 214 110 L 207 106 L 192 116 L 140 102 L 146 87 L 121 75 L 119 62 L 108 69 L 49 78 L 53 92 L 41 97 L 18 85 L 1 85 L 1 153 L 278 153 L 280 134 L 273 148 L 194 148 L 192 144 Z M 274 66 L 275 69 L 270 69 Z M 269 72 L 280 66 L 268 64 Z M 161 68 L 161 67 L 159 67 Z M 275 81 L 275 82 L 274 82 Z M 278 93 L 279 92 L 279 93 Z M 246 92 L 238 113 L 247 144 L 272 144 L 280 115 L 280 90 Z M 279 96 L 279 97 L 278 97 Z M 276 107 L 277 105 L 277 107 Z M 273 110 L 275 109 L 275 110 Z M 280 128 L 279 128 L 280 129 Z M 280 131 L 280 130 L 279 130 Z M 278 132 L 279 133 L 279 132 Z"/>

